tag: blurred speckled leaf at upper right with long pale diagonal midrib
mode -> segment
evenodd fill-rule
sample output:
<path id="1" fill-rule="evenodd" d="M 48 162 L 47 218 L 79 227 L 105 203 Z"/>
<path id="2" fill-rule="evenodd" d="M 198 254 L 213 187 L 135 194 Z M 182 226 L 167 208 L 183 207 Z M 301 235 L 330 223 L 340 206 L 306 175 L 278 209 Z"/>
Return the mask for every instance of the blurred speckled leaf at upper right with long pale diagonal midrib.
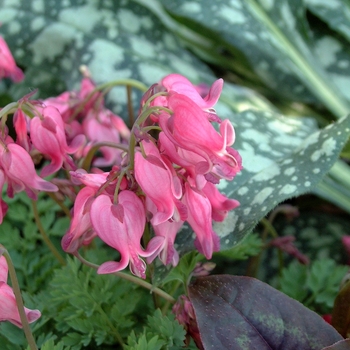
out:
<path id="1" fill-rule="evenodd" d="M 338 117 L 350 104 L 310 47 L 302 0 L 162 0 L 173 14 L 214 31 L 244 53 L 276 95 L 325 104 Z M 192 26 L 193 27 L 193 26 Z"/>

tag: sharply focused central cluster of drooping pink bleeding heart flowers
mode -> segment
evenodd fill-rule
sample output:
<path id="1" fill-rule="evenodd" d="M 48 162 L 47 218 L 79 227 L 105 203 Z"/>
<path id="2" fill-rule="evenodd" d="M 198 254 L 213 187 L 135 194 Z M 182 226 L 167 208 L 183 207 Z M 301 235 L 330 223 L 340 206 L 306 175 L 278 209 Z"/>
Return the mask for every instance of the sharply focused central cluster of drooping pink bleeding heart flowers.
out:
<path id="1" fill-rule="evenodd" d="M 129 148 L 110 172 L 71 172 L 85 187 L 78 193 L 65 251 L 75 253 L 98 236 L 118 250 L 119 262 L 102 264 L 99 273 L 113 273 L 128 264 L 145 277 L 146 263 L 159 257 L 177 265 L 177 232 L 187 222 L 196 234 L 195 246 L 210 259 L 219 250 L 212 220 L 222 221 L 238 206 L 215 184 L 232 180 L 241 170 L 232 124 L 216 115 L 223 81 L 202 97 L 190 81 L 171 74 L 144 95 L 139 117 L 130 133 Z M 219 132 L 213 126 L 219 124 Z M 141 245 L 145 225 L 154 236 Z M 147 244 L 147 245 L 146 245 Z"/>

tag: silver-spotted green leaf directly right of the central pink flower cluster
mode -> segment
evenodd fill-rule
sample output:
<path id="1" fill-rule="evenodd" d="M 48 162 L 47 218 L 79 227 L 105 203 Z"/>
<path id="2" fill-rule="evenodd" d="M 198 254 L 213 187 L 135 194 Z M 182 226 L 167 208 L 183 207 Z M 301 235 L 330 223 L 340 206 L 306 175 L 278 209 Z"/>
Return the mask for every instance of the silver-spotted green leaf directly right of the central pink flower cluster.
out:
<path id="1" fill-rule="evenodd" d="M 223 222 L 213 225 L 221 249 L 236 245 L 278 203 L 315 187 L 336 161 L 350 132 L 350 117 L 319 131 L 309 120 L 270 112 L 245 111 L 230 119 L 243 170 L 232 182 L 222 180 L 219 185 L 240 202 Z M 181 232 L 178 250 L 187 251 L 191 230 L 184 225 Z"/>

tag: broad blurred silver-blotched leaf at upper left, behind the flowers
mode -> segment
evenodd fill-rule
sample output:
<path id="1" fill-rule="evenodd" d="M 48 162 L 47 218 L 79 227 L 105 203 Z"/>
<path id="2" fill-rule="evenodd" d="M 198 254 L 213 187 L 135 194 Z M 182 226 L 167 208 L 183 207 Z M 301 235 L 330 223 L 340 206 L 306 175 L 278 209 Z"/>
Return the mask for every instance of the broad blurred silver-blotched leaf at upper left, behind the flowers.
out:
<path id="1" fill-rule="evenodd" d="M 83 64 L 98 84 L 132 78 L 152 85 L 173 72 L 194 83 L 215 80 L 149 9 L 134 1 L 0 0 L 0 9 L 0 34 L 26 75 L 12 87 L 16 98 L 33 88 L 39 88 L 40 97 L 78 88 Z M 251 90 L 231 91 L 234 110 L 266 104 Z M 120 113 L 124 89 L 114 88 L 109 98 Z"/>

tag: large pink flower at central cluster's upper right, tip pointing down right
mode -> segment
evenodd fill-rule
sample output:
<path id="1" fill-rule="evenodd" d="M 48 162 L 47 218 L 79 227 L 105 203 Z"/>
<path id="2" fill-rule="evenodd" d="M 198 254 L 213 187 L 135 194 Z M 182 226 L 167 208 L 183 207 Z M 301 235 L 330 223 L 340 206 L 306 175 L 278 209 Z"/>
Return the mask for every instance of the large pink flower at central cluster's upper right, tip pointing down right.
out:
<path id="1" fill-rule="evenodd" d="M 202 110 L 184 95 L 168 98 L 172 115 L 162 113 L 159 123 L 166 136 L 178 147 L 197 153 L 206 159 L 208 172 L 218 178 L 232 180 L 241 170 L 237 151 L 230 148 L 235 132 L 229 120 L 220 124 L 220 133 L 205 118 Z"/>

